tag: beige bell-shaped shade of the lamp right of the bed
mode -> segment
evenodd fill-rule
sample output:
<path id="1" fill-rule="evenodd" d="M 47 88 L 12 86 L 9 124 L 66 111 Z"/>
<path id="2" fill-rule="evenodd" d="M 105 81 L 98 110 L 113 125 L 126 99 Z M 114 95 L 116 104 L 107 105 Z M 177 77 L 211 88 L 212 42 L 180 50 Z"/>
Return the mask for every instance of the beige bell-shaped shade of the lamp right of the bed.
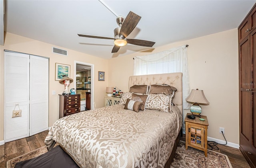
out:
<path id="1" fill-rule="evenodd" d="M 204 96 L 203 90 L 192 89 L 186 101 L 191 103 L 200 103 L 200 104 L 210 104 L 206 97 Z"/>

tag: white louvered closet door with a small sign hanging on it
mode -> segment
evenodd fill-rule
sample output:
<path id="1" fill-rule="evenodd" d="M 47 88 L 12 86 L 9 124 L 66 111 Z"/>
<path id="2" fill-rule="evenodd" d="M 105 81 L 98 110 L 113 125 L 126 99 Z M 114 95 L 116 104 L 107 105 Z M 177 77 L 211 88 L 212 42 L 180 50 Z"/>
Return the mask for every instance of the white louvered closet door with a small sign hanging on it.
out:
<path id="1" fill-rule="evenodd" d="M 29 136 L 29 57 L 6 51 L 4 56 L 4 139 L 9 142 Z M 21 117 L 12 118 L 15 105 Z"/>

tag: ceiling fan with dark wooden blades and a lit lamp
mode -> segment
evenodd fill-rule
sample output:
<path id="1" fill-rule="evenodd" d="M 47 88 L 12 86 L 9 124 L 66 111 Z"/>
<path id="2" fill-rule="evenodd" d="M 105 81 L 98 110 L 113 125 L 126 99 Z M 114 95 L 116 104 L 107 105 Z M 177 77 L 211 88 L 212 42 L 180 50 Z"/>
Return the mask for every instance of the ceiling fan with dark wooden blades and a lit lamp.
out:
<path id="1" fill-rule="evenodd" d="M 118 16 L 116 18 L 116 23 L 119 27 L 114 29 L 114 38 L 111 37 L 101 37 L 101 36 L 94 36 L 94 35 L 84 35 L 78 34 L 80 37 L 90 37 L 90 38 L 97 38 L 97 39 L 112 39 L 114 40 L 114 47 L 112 49 L 112 53 L 118 52 L 120 47 L 125 46 L 127 43 L 133 45 L 140 45 L 145 47 L 152 47 L 155 42 L 146 41 L 146 40 L 139 40 L 139 39 L 126 39 L 126 37 L 133 31 L 136 25 L 140 21 L 140 16 L 134 14 L 133 12 L 129 12 L 129 14 L 124 19 L 123 16 Z"/>

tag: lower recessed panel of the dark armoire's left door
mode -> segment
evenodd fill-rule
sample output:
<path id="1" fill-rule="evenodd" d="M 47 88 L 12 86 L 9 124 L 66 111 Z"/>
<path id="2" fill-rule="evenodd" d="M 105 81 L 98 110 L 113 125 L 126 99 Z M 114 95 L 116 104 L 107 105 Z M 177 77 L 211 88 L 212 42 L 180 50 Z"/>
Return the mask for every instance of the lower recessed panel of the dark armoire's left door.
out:
<path id="1" fill-rule="evenodd" d="M 241 92 L 241 133 L 246 137 L 246 139 L 249 141 L 249 139 L 252 138 L 252 93 L 251 92 Z"/>

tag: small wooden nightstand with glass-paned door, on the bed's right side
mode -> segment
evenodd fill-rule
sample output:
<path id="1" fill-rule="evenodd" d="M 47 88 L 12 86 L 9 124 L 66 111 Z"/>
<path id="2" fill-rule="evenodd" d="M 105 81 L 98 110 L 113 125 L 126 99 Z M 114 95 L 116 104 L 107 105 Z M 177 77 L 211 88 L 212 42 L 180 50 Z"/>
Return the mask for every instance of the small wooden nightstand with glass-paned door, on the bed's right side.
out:
<path id="1" fill-rule="evenodd" d="M 196 119 L 189 119 L 187 113 L 186 122 L 186 150 L 188 147 L 196 148 L 204 151 L 204 156 L 207 157 L 207 127 L 208 120 L 205 115 L 201 115 L 204 121 L 200 120 L 200 117 L 196 116 Z"/>

